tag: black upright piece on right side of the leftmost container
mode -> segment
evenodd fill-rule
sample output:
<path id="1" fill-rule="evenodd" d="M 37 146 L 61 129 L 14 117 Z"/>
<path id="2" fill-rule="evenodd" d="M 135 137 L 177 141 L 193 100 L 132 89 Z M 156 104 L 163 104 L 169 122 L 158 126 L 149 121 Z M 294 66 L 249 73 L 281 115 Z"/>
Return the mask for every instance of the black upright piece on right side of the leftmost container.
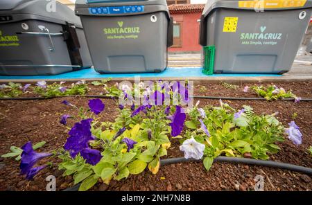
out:
<path id="1" fill-rule="evenodd" d="M 64 41 L 67 44 L 67 50 L 69 52 L 69 57 L 71 59 L 71 64 L 79 65 L 80 67 L 74 67 L 73 71 L 80 70 L 83 68 L 83 60 L 80 55 L 80 44 L 78 35 L 76 32 L 76 26 L 74 24 L 70 24 L 66 22 L 66 25 L 63 25 L 63 35 Z"/>

